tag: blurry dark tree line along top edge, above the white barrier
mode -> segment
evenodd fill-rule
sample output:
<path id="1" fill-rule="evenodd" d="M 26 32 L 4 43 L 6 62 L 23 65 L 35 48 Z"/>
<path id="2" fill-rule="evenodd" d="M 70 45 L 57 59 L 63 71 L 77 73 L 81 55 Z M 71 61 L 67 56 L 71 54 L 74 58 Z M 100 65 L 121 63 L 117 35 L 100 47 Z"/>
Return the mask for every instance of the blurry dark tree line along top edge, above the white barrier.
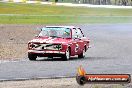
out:
<path id="1" fill-rule="evenodd" d="M 43 0 L 43 1 L 72 2 L 72 3 L 84 3 L 84 4 L 94 4 L 94 5 L 132 6 L 132 0 Z"/>

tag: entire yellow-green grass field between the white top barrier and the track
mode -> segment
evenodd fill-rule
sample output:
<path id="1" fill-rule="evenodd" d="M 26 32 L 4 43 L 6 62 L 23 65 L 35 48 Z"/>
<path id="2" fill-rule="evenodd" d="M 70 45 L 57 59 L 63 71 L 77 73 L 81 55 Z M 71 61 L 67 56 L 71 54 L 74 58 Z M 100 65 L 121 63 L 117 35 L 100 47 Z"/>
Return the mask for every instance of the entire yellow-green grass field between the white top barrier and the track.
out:
<path id="1" fill-rule="evenodd" d="M 132 9 L 106 9 L 40 4 L 0 3 L 0 24 L 131 22 Z"/>

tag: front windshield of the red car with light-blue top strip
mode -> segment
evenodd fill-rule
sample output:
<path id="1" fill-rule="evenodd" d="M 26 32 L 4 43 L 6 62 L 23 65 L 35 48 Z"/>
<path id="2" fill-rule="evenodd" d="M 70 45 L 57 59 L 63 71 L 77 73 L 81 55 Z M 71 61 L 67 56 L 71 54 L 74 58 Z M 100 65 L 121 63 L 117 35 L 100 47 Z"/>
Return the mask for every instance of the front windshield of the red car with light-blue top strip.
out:
<path id="1" fill-rule="evenodd" d="M 69 28 L 61 28 L 61 27 L 46 27 L 42 28 L 40 32 L 40 37 L 62 37 L 62 38 L 70 38 L 70 29 Z"/>

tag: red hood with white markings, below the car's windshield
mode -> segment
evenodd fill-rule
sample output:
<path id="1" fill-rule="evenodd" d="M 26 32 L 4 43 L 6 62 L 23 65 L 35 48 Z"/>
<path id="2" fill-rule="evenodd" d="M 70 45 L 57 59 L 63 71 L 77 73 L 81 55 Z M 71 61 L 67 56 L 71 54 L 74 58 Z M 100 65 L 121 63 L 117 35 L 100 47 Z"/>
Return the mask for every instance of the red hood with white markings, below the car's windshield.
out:
<path id="1" fill-rule="evenodd" d="M 43 38 L 34 38 L 33 40 L 29 42 L 35 42 L 35 43 L 68 43 L 71 39 L 68 38 L 52 38 L 52 37 L 43 37 Z"/>

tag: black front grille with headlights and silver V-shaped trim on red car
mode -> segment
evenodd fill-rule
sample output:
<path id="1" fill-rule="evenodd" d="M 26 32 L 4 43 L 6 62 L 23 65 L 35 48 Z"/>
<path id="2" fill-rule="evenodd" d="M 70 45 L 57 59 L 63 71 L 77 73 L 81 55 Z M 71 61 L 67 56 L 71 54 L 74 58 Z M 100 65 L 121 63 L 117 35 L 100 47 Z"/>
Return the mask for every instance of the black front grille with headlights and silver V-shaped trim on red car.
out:
<path id="1" fill-rule="evenodd" d="M 34 50 L 61 50 L 62 45 L 61 44 L 37 44 L 37 43 L 31 43 L 29 44 L 29 47 Z"/>

